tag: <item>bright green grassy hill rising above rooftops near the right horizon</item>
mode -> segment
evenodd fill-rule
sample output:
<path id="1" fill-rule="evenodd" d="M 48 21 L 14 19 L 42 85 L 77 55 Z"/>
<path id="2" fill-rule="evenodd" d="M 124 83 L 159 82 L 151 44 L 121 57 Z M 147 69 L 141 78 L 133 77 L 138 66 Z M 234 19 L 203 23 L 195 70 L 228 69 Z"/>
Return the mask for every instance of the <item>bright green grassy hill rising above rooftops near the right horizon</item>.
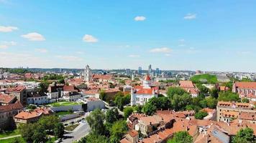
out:
<path id="1" fill-rule="evenodd" d="M 206 83 L 209 84 L 216 84 L 218 82 L 218 79 L 216 75 L 211 75 L 211 74 L 198 74 L 193 77 L 191 77 L 191 81 L 193 83 L 202 83 L 206 81 Z"/>

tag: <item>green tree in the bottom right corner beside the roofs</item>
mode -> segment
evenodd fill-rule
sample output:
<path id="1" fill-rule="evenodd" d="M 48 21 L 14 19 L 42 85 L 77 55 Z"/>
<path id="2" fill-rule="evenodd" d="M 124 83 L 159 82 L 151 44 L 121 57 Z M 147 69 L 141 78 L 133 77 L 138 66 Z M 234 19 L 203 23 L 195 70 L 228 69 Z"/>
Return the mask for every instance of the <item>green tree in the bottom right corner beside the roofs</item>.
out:
<path id="1" fill-rule="evenodd" d="M 239 132 L 237 132 L 237 135 L 234 137 L 232 140 L 233 143 L 255 143 L 256 142 L 256 137 L 253 134 L 253 129 L 250 128 L 245 128 L 245 129 L 240 129 Z"/>

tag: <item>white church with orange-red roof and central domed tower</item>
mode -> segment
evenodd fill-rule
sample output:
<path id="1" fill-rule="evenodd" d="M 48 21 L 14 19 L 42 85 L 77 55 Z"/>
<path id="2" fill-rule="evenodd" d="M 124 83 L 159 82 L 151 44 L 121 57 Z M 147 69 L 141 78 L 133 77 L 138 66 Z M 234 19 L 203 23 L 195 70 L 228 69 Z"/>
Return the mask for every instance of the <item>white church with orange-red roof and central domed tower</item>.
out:
<path id="1" fill-rule="evenodd" d="M 135 86 L 131 90 L 131 106 L 143 105 L 152 97 L 157 97 L 158 87 L 152 87 L 152 81 L 147 74 L 142 86 Z"/>

